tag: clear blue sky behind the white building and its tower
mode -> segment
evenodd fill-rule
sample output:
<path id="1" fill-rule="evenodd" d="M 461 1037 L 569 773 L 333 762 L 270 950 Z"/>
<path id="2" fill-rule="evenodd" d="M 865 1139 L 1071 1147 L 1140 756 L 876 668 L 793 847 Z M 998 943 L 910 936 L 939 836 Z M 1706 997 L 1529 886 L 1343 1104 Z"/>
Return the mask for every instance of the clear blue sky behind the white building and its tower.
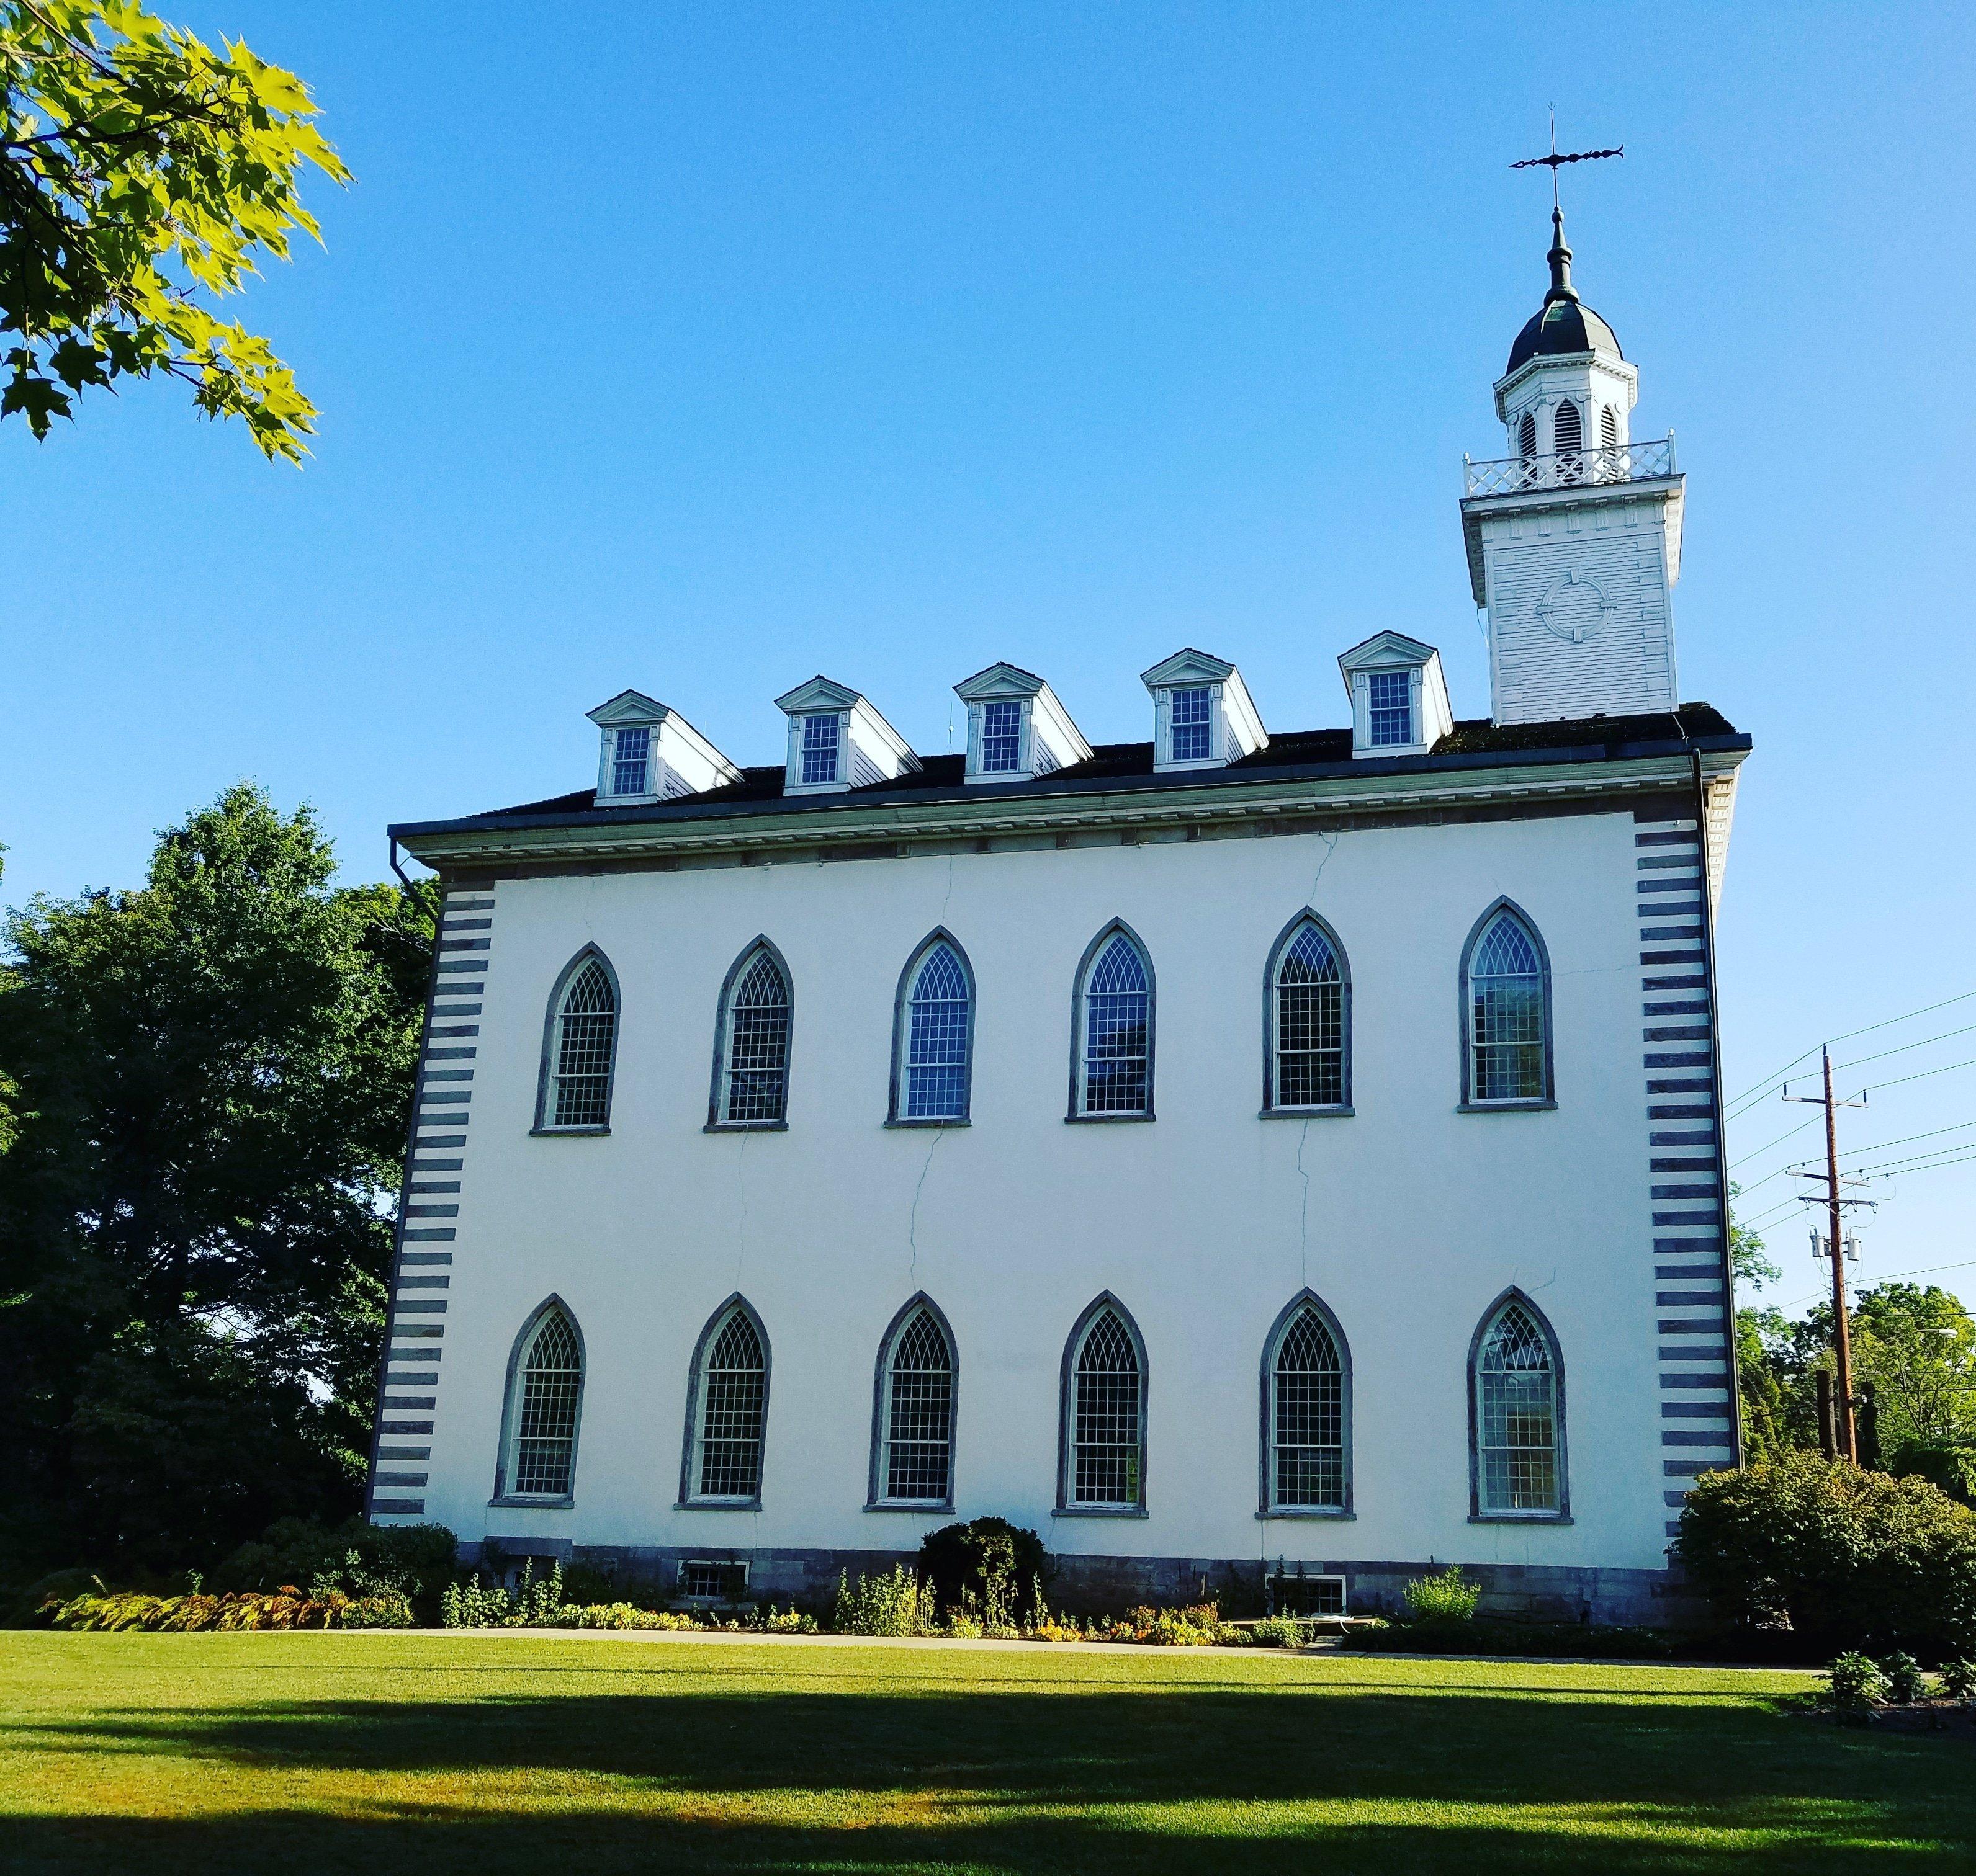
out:
<path id="1" fill-rule="evenodd" d="M 1464 450 L 1577 284 L 1689 474 L 1682 689 L 1757 737 L 1721 922 L 1731 1094 L 1976 991 L 1976 14 L 1962 6 L 164 10 L 300 71 L 358 182 L 237 302 L 322 407 L 302 472 L 172 389 L 0 427 L 0 885 L 126 885 L 241 776 L 383 827 L 589 782 L 624 685 L 741 762 L 816 669 L 921 750 L 1043 671 L 1093 741 L 1235 658 L 1265 721 L 1439 644 L 1488 711 Z M 1976 997 L 1840 1045 L 1855 1149 L 1976 1153 Z M 1948 1035 L 1948 1031 L 1964 1031 Z M 1907 1049 L 1909 1043 L 1925 1047 Z M 1960 1068 L 1946 1064 L 1964 1064 Z M 1818 1288 L 1814 1110 L 1733 1122 Z M 1865 1280 L 1976 1299 L 1976 1163 L 1875 1189 Z"/>

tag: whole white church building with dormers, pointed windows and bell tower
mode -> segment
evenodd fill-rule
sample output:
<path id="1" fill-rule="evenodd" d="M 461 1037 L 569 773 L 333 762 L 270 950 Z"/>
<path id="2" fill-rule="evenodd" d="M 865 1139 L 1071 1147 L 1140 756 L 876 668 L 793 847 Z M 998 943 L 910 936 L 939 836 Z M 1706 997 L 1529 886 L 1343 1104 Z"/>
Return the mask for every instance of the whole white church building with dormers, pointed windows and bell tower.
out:
<path id="1" fill-rule="evenodd" d="M 1012 664 L 964 754 L 798 683 L 775 768 L 626 689 L 595 786 L 391 829 L 445 920 L 373 1519 L 682 1596 L 996 1513 L 1073 1607 L 1672 1607 L 1737 1459 L 1751 741 L 1680 701 L 1674 444 L 1549 263 L 1460 504 L 1486 717 L 1419 620 L 1338 729 L 1194 648 L 1099 746 Z"/>

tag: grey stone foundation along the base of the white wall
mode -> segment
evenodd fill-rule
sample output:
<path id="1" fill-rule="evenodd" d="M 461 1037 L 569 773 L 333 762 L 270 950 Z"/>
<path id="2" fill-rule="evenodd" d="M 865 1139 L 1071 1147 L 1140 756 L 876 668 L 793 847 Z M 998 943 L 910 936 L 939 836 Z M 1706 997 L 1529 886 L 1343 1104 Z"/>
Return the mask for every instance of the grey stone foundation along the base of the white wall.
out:
<path id="1" fill-rule="evenodd" d="M 460 1544 L 460 1562 L 486 1562 L 500 1574 L 524 1558 L 579 1564 L 624 1584 L 674 1590 L 680 1564 L 747 1564 L 749 1600 L 828 1603 L 838 1576 L 879 1576 L 911 1564 L 917 1550 L 723 1550 L 707 1544 L 571 1544 L 567 1538 L 502 1538 Z M 1225 1617 L 1261 1615 L 1265 1578 L 1275 1564 L 1257 1558 L 1199 1556 L 1055 1556 L 1049 1602 L 1073 1615 L 1112 1615 L 1138 1603 L 1219 1603 Z M 537 1562 L 537 1574 L 543 1568 Z M 1304 1562 L 1296 1576 L 1342 1576 L 1354 1615 L 1389 1615 L 1403 1607 L 1401 1590 L 1446 1564 L 1429 1562 Z M 1555 1564 L 1462 1564 L 1482 1586 L 1484 1615 L 1531 1621 L 1597 1621 L 1626 1627 L 1691 1627 L 1705 1619 L 1693 1590 L 1672 1570 L 1599 1570 Z"/>

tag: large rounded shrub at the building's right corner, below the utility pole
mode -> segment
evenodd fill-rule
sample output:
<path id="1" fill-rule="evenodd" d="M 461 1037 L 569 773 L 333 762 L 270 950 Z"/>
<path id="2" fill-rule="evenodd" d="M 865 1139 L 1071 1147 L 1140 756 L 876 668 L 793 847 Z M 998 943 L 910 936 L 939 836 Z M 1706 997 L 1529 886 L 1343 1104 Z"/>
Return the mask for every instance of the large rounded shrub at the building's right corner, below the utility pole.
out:
<path id="1" fill-rule="evenodd" d="M 1705 1473 L 1676 1554 L 1737 1621 L 1855 1647 L 1976 1649 L 1976 1511 L 1921 1477 L 1790 1451 Z"/>

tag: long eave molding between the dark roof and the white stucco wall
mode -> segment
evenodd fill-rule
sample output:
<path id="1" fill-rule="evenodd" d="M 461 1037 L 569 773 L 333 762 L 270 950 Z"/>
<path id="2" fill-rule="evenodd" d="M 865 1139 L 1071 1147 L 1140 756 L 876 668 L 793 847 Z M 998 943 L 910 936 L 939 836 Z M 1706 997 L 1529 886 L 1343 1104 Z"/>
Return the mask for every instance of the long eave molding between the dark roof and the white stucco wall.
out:
<path id="1" fill-rule="evenodd" d="M 1703 752 L 1703 776 L 1733 774 L 1743 750 Z M 1134 790 L 1097 796 L 862 804 L 832 802 L 804 814 L 634 821 L 575 827 L 458 827 L 399 831 L 399 845 L 427 867 L 557 861 L 652 861 L 705 853 L 788 853 L 816 847 L 915 839 L 1095 833 L 1162 827 L 1269 823 L 1306 814 L 1365 814 L 1470 808 L 1516 802 L 1624 798 L 1682 788 L 1688 754 L 1614 762 L 1502 766 L 1431 776 L 1320 776 L 1290 782 L 1221 782 L 1207 788 Z"/>

